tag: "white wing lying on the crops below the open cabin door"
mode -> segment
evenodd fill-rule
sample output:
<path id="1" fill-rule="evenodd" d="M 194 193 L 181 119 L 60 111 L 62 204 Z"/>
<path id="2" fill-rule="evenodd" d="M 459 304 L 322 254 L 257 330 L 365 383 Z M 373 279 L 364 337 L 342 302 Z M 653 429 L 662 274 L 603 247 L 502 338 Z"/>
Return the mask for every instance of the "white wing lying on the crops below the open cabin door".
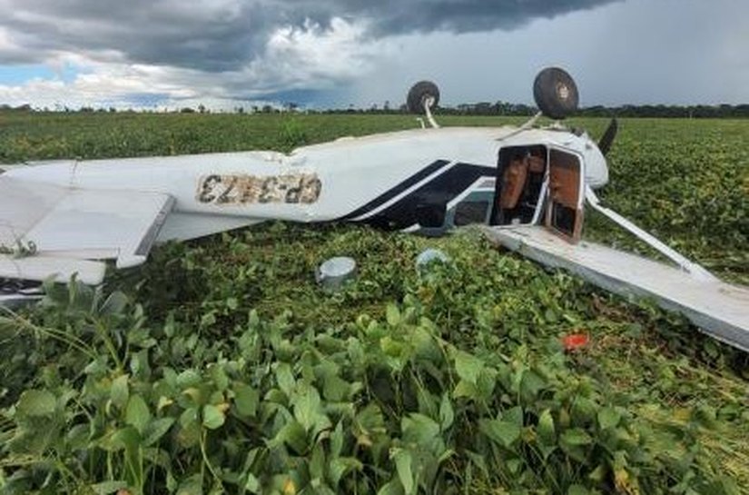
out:
<path id="1" fill-rule="evenodd" d="M 609 292 L 650 298 L 718 340 L 749 351 L 749 288 L 689 273 L 596 243 L 570 244 L 540 226 L 484 227 L 488 238 Z"/>

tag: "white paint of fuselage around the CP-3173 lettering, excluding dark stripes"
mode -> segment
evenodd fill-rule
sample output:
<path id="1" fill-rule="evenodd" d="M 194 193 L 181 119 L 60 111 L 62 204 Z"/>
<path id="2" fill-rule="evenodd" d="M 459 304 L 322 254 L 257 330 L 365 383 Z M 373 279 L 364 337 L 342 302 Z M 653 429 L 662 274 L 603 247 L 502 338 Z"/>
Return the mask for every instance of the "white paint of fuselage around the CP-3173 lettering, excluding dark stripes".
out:
<path id="1" fill-rule="evenodd" d="M 177 213 L 322 222 L 354 211 L 421 168 L 446 157 L 495 166 L 498 145 L 493 138 L 498 132 L 507 131 L 473 127 L 416 129 L 305 146 L 288 155 L 212 153 L 53 163 L 9 171 L 0 177 L 0 182 L 14 177 L 82 189 L 164 193 L 175 199 Z M 322 187 L 319 200 L 312 204 L 200 203 L 196 200 L 199 180 L 212 173 L 261 177 L 315 173 Z"/>

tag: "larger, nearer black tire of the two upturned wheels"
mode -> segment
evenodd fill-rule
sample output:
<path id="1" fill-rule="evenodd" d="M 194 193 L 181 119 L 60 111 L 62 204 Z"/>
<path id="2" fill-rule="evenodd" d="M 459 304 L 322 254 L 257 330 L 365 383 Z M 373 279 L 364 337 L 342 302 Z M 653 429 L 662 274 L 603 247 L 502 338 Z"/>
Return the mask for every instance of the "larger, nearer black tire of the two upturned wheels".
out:
<path id="1" fill-rule="evenodd" d="M 533 98 L 544 115 L 562 120 L 577 110 L 580 96 L 575 80 L 567 71 L 547 67 L 538 73 L 533 82 Z"/>

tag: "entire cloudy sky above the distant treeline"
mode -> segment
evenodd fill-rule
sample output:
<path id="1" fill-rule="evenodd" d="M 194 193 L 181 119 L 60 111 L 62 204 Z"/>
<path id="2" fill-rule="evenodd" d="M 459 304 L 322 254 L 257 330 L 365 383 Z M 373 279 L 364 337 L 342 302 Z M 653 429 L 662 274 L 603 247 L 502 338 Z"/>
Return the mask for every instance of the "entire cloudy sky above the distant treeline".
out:
<path id="1" fill-rule="evenodd" d="M 0 0 L 0 104 L 749 103 L 749 0 Z"/>

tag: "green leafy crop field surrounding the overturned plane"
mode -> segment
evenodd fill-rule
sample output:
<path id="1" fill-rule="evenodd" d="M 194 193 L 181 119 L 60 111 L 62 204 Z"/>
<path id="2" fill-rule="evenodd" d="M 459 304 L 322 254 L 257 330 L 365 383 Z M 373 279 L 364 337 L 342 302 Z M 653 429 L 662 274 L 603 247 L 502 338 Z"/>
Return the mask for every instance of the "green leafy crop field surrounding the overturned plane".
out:
<path id="1" fill-rule="evenodd" d="M 415 124 L 7 113 L 0 163 L 289 151 Z M 749 121 L 623 120 L 599 195 L 749 283 L 747 144 Z M 592 214 L 584 237 L 647 252 Z M 418 271 L 428 247 L 450 261 Z M 323 292 L 314 271 L 334 255 L 359 272 Z M 469 227 L 264 223 L 0 312 L 0 493 L 749 493 L 749 360 Z"/>

